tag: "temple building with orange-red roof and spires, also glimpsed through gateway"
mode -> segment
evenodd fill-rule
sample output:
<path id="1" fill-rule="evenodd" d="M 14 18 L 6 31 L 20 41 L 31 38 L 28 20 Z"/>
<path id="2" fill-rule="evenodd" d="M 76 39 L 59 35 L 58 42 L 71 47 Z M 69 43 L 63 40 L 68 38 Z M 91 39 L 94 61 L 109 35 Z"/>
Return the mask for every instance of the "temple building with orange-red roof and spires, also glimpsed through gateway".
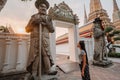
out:
<path id="1" fill-rule="evenodd" d="M 103 9 L 100 0 L 90 0 L 90 13 L 87 18 L 86 10 L 84 7 L 84 25 L 79 28 L 80 37 L 91 38 L 92 37 L 92 28 L 93 20 L 96 17 L 100 17 L 103 21 L 103 27 L 115 26 L 115 28 L 120 29 L 120 10 L 118 8 L 116 0 L 113 0 L 113 22 L 111 22 L 107 12 Z M 56 43 L 66 43 L 67 35 L 64 34 L 57 38 Z"/>

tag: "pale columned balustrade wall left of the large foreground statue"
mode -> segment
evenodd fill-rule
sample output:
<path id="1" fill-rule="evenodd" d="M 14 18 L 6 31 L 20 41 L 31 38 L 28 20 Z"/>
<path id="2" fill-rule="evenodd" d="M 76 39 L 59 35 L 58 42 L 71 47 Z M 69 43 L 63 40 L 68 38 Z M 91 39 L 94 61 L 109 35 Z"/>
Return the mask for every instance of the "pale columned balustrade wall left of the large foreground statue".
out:
<path id="1" fill-rule="evenodd" d="M 0 73 L 26 69 L 29 43 L 29 35 L 0 33 Z"/>

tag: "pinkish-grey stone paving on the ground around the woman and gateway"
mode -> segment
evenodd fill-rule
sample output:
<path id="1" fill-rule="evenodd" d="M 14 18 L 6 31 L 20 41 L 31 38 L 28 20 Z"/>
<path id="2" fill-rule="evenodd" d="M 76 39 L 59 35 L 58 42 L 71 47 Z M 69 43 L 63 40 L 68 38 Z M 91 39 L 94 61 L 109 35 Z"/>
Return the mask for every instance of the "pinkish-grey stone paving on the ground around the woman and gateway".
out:
<path id="1" fill-rule="evenodd" d="M 59 60 L 60 59 L 60 60 Z M 58 64 L 69 63 L 65 57 L 59 56 Z M 82 80 L 80 69 L 77 71 L 65 74 L 59 71 L 60 80 Z M 109 68 L 102 68 L 90 64 L 91 80 L 120 80 L 120 63 L 113 63 Z"/>

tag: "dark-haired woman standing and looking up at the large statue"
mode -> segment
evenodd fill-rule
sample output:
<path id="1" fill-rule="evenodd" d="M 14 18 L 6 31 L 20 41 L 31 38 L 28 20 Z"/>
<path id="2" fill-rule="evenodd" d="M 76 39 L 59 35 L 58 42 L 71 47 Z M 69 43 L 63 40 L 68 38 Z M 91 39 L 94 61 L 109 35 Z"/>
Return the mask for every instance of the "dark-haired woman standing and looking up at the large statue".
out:
<path id="1" fill-rule="evenodd" d="M 84 41 L 79 41 L 77 47 L 80 48 L 79 60 L 82 80 L 90 80 L 89 64 Z"/>

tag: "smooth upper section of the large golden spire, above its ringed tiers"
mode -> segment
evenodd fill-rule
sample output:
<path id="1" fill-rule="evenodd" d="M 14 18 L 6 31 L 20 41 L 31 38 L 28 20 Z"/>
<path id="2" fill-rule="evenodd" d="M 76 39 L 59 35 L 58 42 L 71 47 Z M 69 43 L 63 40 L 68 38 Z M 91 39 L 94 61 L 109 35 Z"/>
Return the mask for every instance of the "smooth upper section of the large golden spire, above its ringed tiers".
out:
<path id="1" fill-rule="evenodd" d="M 101 9 L 102 5 L 100 0 L 90 0 L 90 13 Z"/>

